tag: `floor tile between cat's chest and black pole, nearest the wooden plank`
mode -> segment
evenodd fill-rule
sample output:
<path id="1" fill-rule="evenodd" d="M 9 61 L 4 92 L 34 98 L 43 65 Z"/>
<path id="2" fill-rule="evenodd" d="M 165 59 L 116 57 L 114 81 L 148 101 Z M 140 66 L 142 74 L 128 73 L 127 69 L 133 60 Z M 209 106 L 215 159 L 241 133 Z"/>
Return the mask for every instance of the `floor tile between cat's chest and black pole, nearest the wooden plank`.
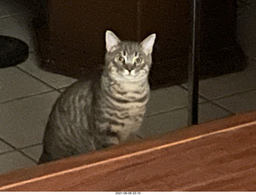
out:
<path id="1" fill-rule="evenodd" d="M 141 129 L 138 131 L 138 135 L 141 137 L 150 137 L 185 127 L 186 124 L 186 108 L 176 109 L 168 113 L 159 113 L 146 117 Z"/>

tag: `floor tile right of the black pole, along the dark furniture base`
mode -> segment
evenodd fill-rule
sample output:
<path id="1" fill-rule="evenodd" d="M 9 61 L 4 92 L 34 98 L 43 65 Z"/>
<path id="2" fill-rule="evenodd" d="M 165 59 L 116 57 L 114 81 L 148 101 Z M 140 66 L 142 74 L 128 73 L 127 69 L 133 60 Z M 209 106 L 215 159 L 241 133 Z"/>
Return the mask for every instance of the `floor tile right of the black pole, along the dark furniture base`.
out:
<path id="1" fill-rule="evenodd" d="M 256 89 L 256 62 L 250 59 L 246 70 L 208 78 L 199 82 L 199 94 L 209 100 Z M 187 87 L 186 84 L 183 86 Z"/>

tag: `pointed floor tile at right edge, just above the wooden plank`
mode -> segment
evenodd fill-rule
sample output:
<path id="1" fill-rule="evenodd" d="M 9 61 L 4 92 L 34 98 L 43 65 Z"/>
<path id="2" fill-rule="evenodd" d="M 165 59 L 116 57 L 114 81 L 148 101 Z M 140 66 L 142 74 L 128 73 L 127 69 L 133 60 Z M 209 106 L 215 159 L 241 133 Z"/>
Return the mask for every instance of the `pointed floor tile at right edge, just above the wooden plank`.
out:
<path id="1" fill-rule="evenodd" d="M 233 113 L 244 113 L 256 109 L 256 90 L 235 94 L 233 96 L 214 101 L 218 105 Z"/>

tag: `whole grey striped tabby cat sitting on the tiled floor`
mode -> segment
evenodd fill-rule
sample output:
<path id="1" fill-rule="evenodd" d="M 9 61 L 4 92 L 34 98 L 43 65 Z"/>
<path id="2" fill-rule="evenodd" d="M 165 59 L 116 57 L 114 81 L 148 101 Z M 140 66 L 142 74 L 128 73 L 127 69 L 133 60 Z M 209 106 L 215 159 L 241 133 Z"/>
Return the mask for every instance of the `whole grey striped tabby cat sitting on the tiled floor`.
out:
<path id="1" fill-rule="evenodd" d="M 50 113 L 39 163 L 118 145 L 142 124 L 155 34 L 141 43 L 106 31 L 106 57 L 95 81 L 76 82 Z"/>

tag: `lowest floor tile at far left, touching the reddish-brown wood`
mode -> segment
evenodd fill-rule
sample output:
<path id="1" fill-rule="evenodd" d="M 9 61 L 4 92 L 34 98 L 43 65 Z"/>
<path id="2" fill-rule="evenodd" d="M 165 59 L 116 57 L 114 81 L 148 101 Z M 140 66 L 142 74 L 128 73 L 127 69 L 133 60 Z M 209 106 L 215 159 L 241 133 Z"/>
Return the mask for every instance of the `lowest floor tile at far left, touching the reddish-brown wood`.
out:
<path id="1" fill-rule="evenodd" d="M 36 165 L 36 163 L 25 157 L 18 151 L 3 153 L 0 155 L 0 173 L 7 173 L 16 169 L 22 169 Z"/>

